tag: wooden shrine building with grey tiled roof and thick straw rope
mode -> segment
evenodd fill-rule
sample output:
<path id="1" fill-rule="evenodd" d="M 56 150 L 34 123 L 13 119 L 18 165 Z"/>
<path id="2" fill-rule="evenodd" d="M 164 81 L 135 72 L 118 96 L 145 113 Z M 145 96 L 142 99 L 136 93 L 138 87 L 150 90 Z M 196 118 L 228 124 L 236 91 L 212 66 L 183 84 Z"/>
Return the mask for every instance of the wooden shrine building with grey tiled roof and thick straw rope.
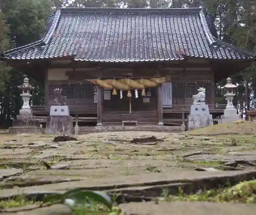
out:
<path id="1" fill-rule="evenodd" d="M 202 8 L 60 8 L 38 41 L 2 59 L 45 83 L 49 115 L 55 88 L 62 88 L 79 123 L 178 125 L 199 87 L 214 118 L 215 83 L 248 67 L 255 55 L 218 39 L 214 19 Z"/>

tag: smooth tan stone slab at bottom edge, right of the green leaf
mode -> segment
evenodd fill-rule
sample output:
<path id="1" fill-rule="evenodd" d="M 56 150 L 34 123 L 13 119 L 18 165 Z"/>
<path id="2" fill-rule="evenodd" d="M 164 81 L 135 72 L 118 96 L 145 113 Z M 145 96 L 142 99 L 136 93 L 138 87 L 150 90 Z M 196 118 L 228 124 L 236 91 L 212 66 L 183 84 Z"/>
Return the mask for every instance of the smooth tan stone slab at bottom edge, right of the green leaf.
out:
<path id="1" fill-rule="evenodd" d="M 121 204 L 126 215 L 255 215 L 256 204 L 213 202 L 134 202 Z"/>

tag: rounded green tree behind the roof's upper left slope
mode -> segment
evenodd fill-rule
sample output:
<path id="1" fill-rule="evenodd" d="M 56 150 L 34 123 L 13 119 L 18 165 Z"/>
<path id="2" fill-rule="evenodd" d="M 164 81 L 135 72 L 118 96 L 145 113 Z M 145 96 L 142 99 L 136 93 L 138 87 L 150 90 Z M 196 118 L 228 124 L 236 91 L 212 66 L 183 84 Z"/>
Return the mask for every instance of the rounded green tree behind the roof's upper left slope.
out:
<path id="1" fill-rule="evenodd" d="M 6 2 L 5 2 L 6 1 Z M 49 13 L 53 10 L 51 0 L 4 0 L 1 10 L 10 27 L 10 37 L 15 46 L 22 46 L 40 38 Z"/>

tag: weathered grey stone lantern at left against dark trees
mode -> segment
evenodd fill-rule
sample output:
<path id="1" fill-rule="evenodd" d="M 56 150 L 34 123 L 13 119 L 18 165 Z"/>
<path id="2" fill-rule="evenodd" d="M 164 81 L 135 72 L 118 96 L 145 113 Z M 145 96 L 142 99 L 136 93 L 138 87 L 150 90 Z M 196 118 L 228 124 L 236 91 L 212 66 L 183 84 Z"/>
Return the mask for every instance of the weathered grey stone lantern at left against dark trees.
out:
<path id="1" fill-rule="evenodd" d="M 20 96 L 22 97 L 22 100 L 23 100 L 23 106 L 22 106 L 22 109 L 19 110 L 19 114 L 32 115 L 32 110 L 29 105 L 29 101 L 30 101 L 30 98 L 32 97 L 30 92 L 34 90 L 35 87 L 31 86 L 29 84 L 29 79 L 25 77 L 23 84 L 18 86 L 18 88 L 22 89 L 22 94 L 20 94 Z"/>

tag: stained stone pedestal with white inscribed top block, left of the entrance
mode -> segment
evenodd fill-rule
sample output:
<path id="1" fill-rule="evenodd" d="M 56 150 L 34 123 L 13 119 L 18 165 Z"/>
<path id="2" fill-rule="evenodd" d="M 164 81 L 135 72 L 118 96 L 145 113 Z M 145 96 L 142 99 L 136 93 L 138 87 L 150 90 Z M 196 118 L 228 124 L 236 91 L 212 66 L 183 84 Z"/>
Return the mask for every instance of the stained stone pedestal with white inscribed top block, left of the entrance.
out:
<path id="1" fill-rule="evenodd" d="M 73 133 L 73 118 L 67 105 L 51 106 L 47 117 L 46 133 L 55 135 L 71 135 Z"/>

